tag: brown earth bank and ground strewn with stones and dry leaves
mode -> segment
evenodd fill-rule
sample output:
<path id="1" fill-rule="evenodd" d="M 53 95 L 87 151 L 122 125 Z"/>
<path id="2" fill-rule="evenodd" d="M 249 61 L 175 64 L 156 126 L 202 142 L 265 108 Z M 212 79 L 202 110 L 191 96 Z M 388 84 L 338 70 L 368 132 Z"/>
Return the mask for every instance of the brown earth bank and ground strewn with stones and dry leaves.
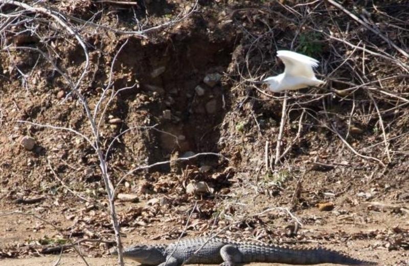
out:
<path id="1" fill-rule="evenodd" d="M 130 87 L 113 98 L 101 120 L 104 151 L 114 140 L 108 154 L 113 183 L 135 167 L 186 154 L 223 157 L 201 156 L 128 175 L 118 190 L 137 195 L 139 202 L 116 202 L 124 245 L 169 242 L 181 233 L 210 235 L 231 225 L 222 236 L 322 246 L 381 265 L 409 265 L 407 57 L 321 1 L 199 1 L 186 19 L 151 30 L 146 39 L 113 32 L 137 30 L 134 18 L 145 28 L 161 25 L 194 7 L 191 1 L 135 3 L 132 8 L 52 3 L 63 14 L 111 28 L 69 20 L 89 53 L 79 88 L 90 108 L 110 82 L 116 90 Z M 370 25 L 374 21 L 407 51 L 409 7 L 403 1 L 345 7 Z M 1 12 L 14 9 L 6 5 Z M 81 46 L 49 16 L 27 15 L 33 19 L 2 33 L 0 210 L 6 215 L 0 216 L 0 264 L 52 265 L 61 246 L 83 241 L 79 246 L 90 265 L 114 265 L 108 255 L 114 235 L 92 147 L 66 130 L 19 122 L 73 128 L 93 139 L 64 78 L 38 52 L 11 49 L 50 53 L 76 81 L 85 66 Z M 35 34 L 24 31 L 29 26 L 36 27 Z M 283 146 L 291 148 L 279 165 L 266 168 L 267 141 L 274 161 L 283 95 L 263 94 L 248 79 L 283 70 L 277 49 L 319 59 L 317 73 L 329 82 L 321 90 L 290 93 Z M 215 73 L 221 80 L 214 86 L 203 82 Z M 135 126 L 140 128 L 115 140 Z M 354 154 L 335 131 L 367 158 Z M 24 136 L 34 138 L 32 150 L 21 146 Z M 187 186 L 197 182 L 210 189 L 188 194 Z M 290 210 L 302 224 L 298 231 L 295 218 L 276 207 Z M 60 265 L 81 263 L 66 247 Z"/>

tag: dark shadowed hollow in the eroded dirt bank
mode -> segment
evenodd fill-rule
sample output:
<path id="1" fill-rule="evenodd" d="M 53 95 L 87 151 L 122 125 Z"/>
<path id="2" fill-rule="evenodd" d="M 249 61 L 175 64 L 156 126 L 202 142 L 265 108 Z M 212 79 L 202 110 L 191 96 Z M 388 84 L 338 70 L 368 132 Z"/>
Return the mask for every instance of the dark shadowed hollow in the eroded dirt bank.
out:
<path id="1" fill-rule="evenodd" d="M 205 34 L 174 35 L 166 42 L 142 45 L 130 39 L 118 58 L 116 68 L 132 73 L 140 88 L 125 97 L 129 104 L 145 97 L 139 106 L 149 114 L 150 124 L 159 124 L 155 139 L 149 141 L 148 162 L 169 159 L 178 152 L 218 152 L 218 126 L 230 106 L 229 91 L 220 79 L 231 62 L 233 43 L 210 40 Z M 215 80 L 215 84 L 206 79 Z M 133 83 L 129 75 L 117 79 L 117 88 Z M 128 120 L 132 117 L 132 107 Z M 200 165 L 217 164 L 218 158 L 200 158 Z M 168 171 L 169 166 L 155 169 Z"/>

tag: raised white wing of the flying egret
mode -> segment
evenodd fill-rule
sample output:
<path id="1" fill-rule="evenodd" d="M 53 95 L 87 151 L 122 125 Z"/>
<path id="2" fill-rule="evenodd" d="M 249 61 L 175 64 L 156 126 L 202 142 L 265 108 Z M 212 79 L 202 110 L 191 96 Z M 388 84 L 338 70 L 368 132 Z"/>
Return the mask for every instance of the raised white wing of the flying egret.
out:
<path id="1" fill-rule="evenodd" d="M 312 68 L 318 66 L 318 60 L 286 50 L 277 51 L 277 56 L 284 62 L 285 73 L 292 76 L 303 76 L 307 78 L 315 77 Z"/>

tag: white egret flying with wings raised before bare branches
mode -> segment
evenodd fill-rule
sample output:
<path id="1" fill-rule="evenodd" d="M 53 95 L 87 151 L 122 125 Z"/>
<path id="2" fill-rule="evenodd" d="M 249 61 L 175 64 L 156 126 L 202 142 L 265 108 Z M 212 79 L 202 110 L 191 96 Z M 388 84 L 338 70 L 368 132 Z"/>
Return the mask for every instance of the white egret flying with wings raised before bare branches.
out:
<path id="1" fill-rule="evenodd" d="M 277 51 L 277 56 L 283 61 L 285 69 L 280 75 L 263 80 L 263 83 L 268 83 L 267 90 L 277 93 L 325 83 L 317 79 L 312 71 L 318 66 L 318 60 L 286 50 Z"/>

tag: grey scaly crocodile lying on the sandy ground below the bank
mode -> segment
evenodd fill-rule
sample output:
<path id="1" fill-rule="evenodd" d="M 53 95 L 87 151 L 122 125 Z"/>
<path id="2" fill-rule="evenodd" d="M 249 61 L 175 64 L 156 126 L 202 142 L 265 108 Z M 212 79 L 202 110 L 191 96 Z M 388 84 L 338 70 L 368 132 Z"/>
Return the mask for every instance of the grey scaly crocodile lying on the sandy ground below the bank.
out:
<path id="1" fill-rule="evenodd" d="M 117 250 L 111 251 L 116 255 Z M 292 249 L 261 243 L 231 241 L 223 238 L 187 238 L 169 245 L 137 245 L 124 249 L 123 255 L 143 265 L 181 266 L 184 264 L 221 264 L 235 266 L 249 262 L 343 265 L 378 265 L 325 248 Z"/>

